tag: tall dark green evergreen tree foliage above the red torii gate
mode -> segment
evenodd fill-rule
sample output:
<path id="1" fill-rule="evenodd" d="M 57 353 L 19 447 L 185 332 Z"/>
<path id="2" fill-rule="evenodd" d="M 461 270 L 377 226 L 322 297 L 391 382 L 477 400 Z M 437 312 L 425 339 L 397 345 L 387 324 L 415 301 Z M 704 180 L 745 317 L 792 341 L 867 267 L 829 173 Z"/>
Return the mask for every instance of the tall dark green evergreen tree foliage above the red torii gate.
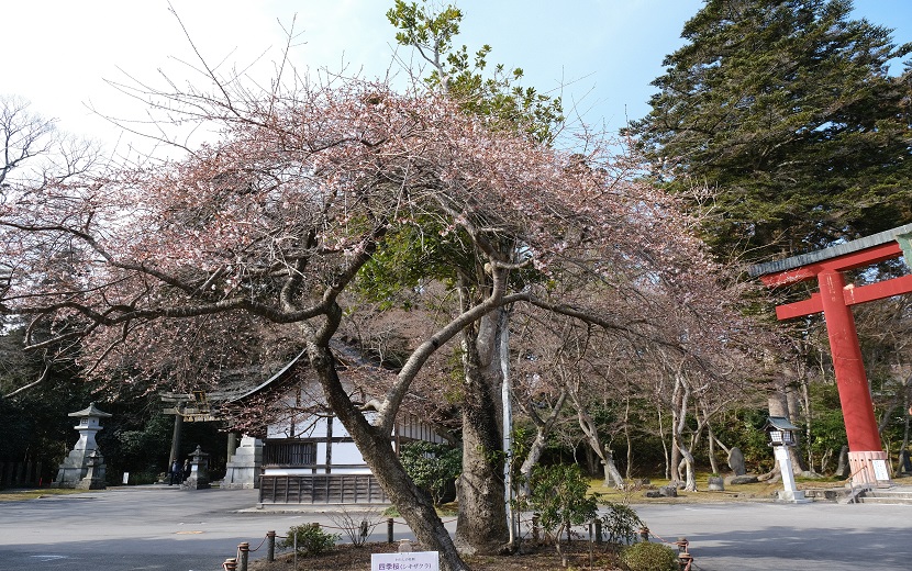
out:
<path id="1" fill-rule="evenodd" d="M 912 220 L 910 88 L 891 30 L 849 0 L 707 0 L 631 125 L 656 177 L 708 186 L 723 258 L 783 257 Z"/>

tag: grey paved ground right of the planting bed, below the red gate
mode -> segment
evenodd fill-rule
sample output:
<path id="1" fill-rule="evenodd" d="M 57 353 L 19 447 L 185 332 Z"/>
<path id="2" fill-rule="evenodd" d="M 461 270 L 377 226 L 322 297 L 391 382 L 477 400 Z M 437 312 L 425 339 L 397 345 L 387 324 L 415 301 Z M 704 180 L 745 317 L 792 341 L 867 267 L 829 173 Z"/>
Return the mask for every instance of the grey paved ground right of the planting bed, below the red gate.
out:
<path id="1" fill-rule="evenodd" d="M 912 505 L 635 506 L 649 529 L 687 537 L 704 571 L 909 571 Z"/>

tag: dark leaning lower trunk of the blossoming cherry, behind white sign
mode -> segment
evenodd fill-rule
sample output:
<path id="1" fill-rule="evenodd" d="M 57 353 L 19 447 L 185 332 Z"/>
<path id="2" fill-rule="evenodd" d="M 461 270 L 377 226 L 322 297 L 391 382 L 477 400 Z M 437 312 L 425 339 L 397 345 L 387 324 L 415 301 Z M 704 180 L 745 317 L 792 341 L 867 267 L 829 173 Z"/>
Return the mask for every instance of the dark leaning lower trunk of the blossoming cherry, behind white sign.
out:
<path id="1" fill-rule="evenodd" d="M 430 496 L 415 486 L 399 462 L 390 443 L 390 435 L 380 434 L 348 399 L 340 382 L 330 349 L 309 343 L 308 356 L 327 403 L 352 435 L 374 477 L 418 540 L 427 549 L 440 552 L 441 569 L 469 571 L 459 558 L 456 546 L 437 516 Z"/>

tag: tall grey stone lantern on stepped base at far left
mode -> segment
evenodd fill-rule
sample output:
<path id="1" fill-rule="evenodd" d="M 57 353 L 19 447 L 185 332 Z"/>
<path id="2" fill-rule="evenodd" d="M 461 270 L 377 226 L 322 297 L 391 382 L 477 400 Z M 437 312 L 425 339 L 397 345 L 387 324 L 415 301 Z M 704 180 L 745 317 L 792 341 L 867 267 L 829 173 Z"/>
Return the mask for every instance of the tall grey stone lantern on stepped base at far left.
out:
<path id="1" fill-rule="evenodd" d="M 110 418 L 112 415 L 96 407 L 94 403 L 88 408 L 69 413 L 68 416 L 78 418 L 74 426 L 79 430 L 79 440 L 73 447 L 57 471 L 57 479 L 51 484 L 53 488 L 81 488 L 87 490 L 100 490 L 104 485 L 104 458 L 98 449 L 94 440 L 97 432 L 101 430 L 99 424 L 101 418 Z"/>

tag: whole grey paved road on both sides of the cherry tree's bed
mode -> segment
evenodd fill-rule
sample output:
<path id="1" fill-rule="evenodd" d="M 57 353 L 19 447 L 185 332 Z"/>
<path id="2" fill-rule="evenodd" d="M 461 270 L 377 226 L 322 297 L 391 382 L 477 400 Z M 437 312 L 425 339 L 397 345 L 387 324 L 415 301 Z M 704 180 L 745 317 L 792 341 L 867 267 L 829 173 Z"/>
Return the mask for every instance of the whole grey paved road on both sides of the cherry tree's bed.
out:
<path id="1" fill-rule="evenodd" d="M 218 571 L 237 544 L 325 513 L 258 511 L 254 490 L 118 488 L 0 504 L 0 571 Z M 912 569 L 912 506 L 743 503 L 636 506 L 652 531 L 690 540 L 703 571 Z M 337 514 L 335 514 L 337 517 Z M 453 527 L 453 524 L 449 524 Z M 397 538 L 408 529 L 397 526 Z M 371 540 L 383 540 L 380 526 Z M 252 559 L 265 557 L 265 547 Z"/>

